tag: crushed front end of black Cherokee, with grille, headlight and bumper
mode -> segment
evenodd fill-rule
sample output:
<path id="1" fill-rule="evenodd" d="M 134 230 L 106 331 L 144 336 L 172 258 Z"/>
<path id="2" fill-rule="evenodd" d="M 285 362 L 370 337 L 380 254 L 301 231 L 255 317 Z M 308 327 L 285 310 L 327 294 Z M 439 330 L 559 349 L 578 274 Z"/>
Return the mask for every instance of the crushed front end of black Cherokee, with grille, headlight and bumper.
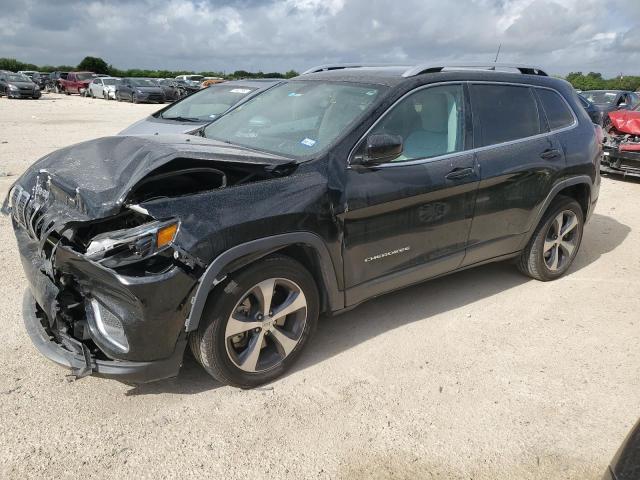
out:
<path id="1" fill-rule="evenodd" d="M 91 219 L 46 174 L 13 187 L 10 211 L 29 283 L 24 321 L 42 354 L 76 377 L 177 375 L 198 268 L 173 245 L 178 221 L 130 208 Z"/>

